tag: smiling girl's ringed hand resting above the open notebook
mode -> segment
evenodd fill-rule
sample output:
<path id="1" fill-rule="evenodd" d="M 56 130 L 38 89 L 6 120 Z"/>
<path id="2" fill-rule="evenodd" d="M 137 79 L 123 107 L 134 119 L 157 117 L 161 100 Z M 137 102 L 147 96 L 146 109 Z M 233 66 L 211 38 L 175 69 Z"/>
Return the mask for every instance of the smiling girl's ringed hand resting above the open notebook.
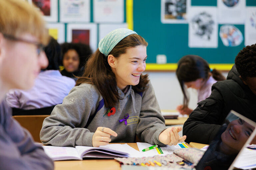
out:
<path id="1" fill-rule="evenodd" d="M 98 127 L 92 136 L 92 146 L 107 145 L 111 141 L 110 135 L 117 136 L 117 133 L 110 128 Z"/>

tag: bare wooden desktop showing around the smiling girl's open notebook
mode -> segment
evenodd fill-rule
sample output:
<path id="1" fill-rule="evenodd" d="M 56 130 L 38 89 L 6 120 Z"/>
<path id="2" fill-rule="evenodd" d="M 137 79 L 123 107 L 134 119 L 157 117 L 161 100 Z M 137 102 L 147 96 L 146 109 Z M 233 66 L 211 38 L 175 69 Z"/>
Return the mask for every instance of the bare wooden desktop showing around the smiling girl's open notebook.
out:
<path id="1" fill-rule="evenodd" d="M 120 143 L 124 144 L 124 143 Z M 139 150 L 137 143 L 127 143 L 134 149 Z M 120 164 L 115 159 L 86 159 L 54 161 L 54 170 L 121 170 Z"/>

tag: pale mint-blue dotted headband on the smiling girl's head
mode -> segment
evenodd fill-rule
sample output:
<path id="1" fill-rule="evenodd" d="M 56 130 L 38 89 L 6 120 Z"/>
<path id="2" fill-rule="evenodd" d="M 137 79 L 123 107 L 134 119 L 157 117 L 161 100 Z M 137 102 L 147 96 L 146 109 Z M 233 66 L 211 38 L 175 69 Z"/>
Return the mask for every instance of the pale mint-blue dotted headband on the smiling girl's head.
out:
<path id="1" fill-rule="evenodd" d="M 119 28 L 111 31 L 99 42 L 100 52 L 107 57 L 110 51 L 116 46 L 118 42 L 131 34 L 137 33 L 127 28 Z"/>

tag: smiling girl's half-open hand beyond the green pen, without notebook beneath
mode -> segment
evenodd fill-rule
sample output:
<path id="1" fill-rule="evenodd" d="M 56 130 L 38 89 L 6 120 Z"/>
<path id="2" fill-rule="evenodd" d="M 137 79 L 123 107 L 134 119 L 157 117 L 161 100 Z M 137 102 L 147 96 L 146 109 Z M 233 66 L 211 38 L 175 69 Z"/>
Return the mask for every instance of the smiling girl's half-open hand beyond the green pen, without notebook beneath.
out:
<path id="1" fill-rule="evenodd" d="M 183 142 L 186 139 L 186 135 L 180 137 L 178 132 L 182 130 L 182 127 L 167 128 L 159 135 L 160 142 L 167 145 L 177 145 L 178 142 Z"/>

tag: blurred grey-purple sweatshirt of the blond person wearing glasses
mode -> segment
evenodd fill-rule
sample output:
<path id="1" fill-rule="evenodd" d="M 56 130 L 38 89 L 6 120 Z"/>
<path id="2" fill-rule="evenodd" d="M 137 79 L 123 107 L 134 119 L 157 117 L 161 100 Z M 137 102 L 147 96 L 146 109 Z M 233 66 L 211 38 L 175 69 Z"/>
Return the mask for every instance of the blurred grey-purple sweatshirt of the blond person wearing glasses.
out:
<path id="1" fill-rule="evenodd" d="M 29 132 L 11 117 L 7 104 L 0 104 L 0 169 L 53 170 L 53 161 Z"/>

